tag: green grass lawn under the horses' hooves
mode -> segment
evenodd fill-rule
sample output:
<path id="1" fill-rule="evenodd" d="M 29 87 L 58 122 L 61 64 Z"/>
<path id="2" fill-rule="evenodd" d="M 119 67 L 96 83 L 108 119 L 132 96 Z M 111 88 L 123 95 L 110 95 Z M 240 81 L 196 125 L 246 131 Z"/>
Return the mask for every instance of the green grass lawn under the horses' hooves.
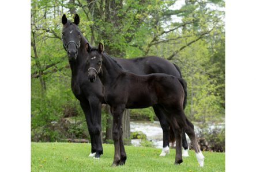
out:
<path id="1" fill-rule="evenodd" d="M 114 145 L 103 144 L 100 159 L 89 158 L 91 144 L 31 143 L 31 171 L 225 171 L 225 154 L 204 152 L 205 166 L 198 167 L 193 150 L 183 163 L 174 165 L 175 149 L 159 157 L 160 149 L 125 146 L 124 166 L 111 167 Z"/>

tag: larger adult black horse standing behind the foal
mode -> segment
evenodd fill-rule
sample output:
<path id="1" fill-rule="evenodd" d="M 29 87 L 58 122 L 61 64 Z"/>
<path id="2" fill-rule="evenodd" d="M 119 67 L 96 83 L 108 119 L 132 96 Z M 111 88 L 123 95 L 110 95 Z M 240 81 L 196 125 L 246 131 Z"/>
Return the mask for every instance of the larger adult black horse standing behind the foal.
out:
<path id="1" fill-rule="evenodd" d="M 88 53 L 85 50 L 85 44 L 88 42 L 78 29 L 80 22 L 79 16 L 76 14 L 74 22 L 70 22 L 66 15 L 62 16 L 62 41 L 67 55 L 69 57 L 69 64 L 71 68 L 71 88 L 84 111 L 86 123 L 91 137 L 91 154 L 99 158 L 103 154 L 103 147 L 101 144 L 101 103 L 106 103 L 103 99 L 102 84 L 99 79 L 95 83 L 90 83 L 87 79 L 88 65 L 85 60 Z M 127 71 L 146 75 L 150 73 L 167 73 L 170 75 L 181 77 L 179 68 L 174 64 L 160 57 L 149 56 L 133 59 L 116 58 L 119 64 Z M 170 123 L 165 118 L 163 112 L 159 107 L 153 107 L 157 118 L 163 129 L 163 151 L 160 155 L 165 155 L 169 150 L 169 139 L 174 138 Z M 187 150 L 187 140 L 185 132 L 183 132 L 182 144 Z"/>

